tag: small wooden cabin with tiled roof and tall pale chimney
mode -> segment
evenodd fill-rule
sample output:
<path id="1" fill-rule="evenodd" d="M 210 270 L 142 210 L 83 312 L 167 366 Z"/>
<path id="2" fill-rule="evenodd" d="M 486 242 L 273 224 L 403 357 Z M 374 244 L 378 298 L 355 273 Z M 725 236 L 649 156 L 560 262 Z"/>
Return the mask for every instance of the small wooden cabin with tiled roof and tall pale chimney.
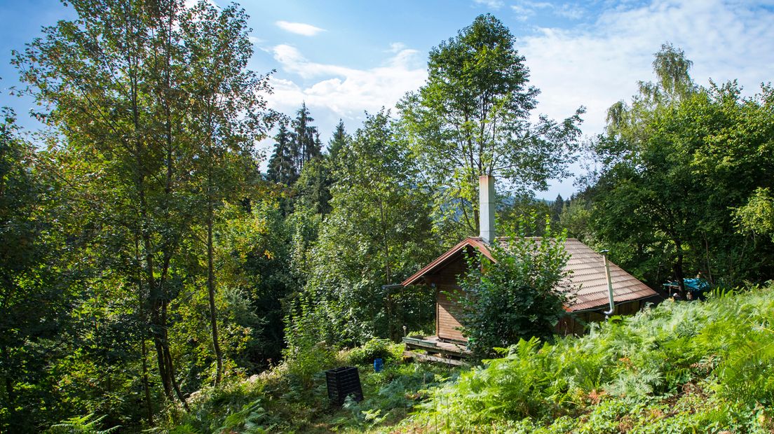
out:
<path id="1" fill-rule="evenodd" d="M 457 276 L 467 273 L 467 257 L 480 252 L 495 261 L 489 246 L 491 242 L 505 245 L 506 239 L 496 239 L 494 231 L 494 181 L 491 177 L 481 177 L 481 236 L 468 237 L 427 264 L 422 270 L 403 281 L 403 287 L 426 285 L 435 292 L 436 334 L 430 337 L 409 337 L 404 339 L 407 348 L 423 349 L 429 354 L 441 356 L 464 356 L 464 344 L 467 338 L 460 331 L 460 307 L 448 294 L 460 291 Z M 605 273 L 605 258 L 601 253 L 577 239 L 567 239 L 564 244 L 570 257 L 565 266 L 569 272 L 563 290 L 573 291 L 572 302 L 565 307 L 568 314 L 557 324 L 559 334 L 583 334 L 584 324 L 604 320 L 610 306 L 608 278 Z M 608 261 L 612 284 L 613 314 L 634 314 L 646 302 L 660 300 L 660 296 L 645 283 L 626 273 L 621 267 Z M 409 351 L 410 353 L 410 351 Z M 406 354 L 416 355 L 416 354 Z"/>

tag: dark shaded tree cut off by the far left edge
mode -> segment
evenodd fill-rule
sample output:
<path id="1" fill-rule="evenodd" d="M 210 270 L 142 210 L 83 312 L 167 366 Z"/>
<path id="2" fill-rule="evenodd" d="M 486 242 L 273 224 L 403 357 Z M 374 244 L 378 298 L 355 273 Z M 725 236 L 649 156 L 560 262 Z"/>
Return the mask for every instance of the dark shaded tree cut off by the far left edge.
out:
<path id="1" fill-rule="evenodd" d="M 0 430 L 33 432 L 42 409 L 61 412 L 47 365 L 63 357 L 77 252 L 67 214 L 57 212 L 53 173 L 0 109 Z M 44 160 L 43 160 L 44 161 Z M 77 256 L 77 253 L 76 253 Z M 61 414 L 61 413 L 60 413 Z"/>

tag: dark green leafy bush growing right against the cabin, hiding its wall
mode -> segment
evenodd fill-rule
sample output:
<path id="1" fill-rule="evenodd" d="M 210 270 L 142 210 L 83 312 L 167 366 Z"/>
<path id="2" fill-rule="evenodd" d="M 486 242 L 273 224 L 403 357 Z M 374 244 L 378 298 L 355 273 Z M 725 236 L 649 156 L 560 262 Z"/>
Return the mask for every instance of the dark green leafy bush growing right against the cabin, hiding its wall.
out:
<path id="1" fill-rule="evenodd" d="M 479 358 L 520 339 L 550 339 L 564 315 L 568 298 L 560 286 L 567 277 L 567 236 L 553 238 L 550 222 L 541 238 L 526 237 L 526 232 L 526 225 L 519 224 L 518 231 L 501 239 L 507 240 L 500 241 L 503 245 L 493 244 L 494 263 L 481 253 L 469 258 L 458 303 L 468 348 Z"/>

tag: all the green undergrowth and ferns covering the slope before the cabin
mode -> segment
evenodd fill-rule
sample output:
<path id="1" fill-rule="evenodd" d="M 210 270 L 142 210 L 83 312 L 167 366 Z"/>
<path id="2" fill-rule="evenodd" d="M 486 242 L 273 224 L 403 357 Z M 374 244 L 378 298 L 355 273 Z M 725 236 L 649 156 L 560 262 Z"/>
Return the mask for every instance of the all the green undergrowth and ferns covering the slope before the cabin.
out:
<path id="1" fill-rule="evenodd" d="M 403 361 L 386 341 L 325 349 L 201 391 L 190 413 L 168 413 L 166 431 L 772 433 L 772 318 L 769 286 L 666 301 L 553 344 L 520 341 L 478 368 Z M 332 406 L 324 370 L 348 364 L 365 399 Z"/>

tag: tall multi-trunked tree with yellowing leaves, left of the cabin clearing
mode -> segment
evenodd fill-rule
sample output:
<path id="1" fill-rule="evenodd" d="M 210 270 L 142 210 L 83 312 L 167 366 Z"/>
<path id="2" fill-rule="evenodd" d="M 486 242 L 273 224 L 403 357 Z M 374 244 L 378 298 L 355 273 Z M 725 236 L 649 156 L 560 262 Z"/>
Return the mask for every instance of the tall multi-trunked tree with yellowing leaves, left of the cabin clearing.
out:
<path id="1" fill-rule="evenodd" d="M 188 354 L 174 351 L 178 297 L 203 287 L 196 284 L 203 246 L 206 287 L 214 292 L 212 231 L 200 225 L 217 222 L 217 208 L 230 193 L 225 182 L 238 175 L 235 181 L 244 184 L 246 171 L 257 172 L 247 144 L 260 131 L 256 110 L 267 90 L 265 77 L 242 70 L 251 43 L 246 17 L 235 6 L 188 7 L 176 0 L 70 4 L 77 19 L 44 29 L 45 36 L 16 53 L 14 63 L 29 92 L 48 109 L 42 116 L 61 140 L 57 164 L 66 168 L 67 182 L 78 186 L 73 195 L 80 201 L 77 214 L 84 216 L 86 263 L 111 270 L 94 273 L 94 293 L 81 310 L 108 320 L 126 314 L 136 325 L 108 329 L 113 335 L 101 327 L 84 331 L 84 337 L 109 337 L 122 350 L 128 347 L 125 353 L 134 351 L 131 359 L 122 353 L 122 361 L 142 366 L 142 386 L 125 394 L 144 392 L 133 405 L 145 404 L 150 424 L 152 385 L 187 405 L 178 369 Z M 232 91 L 246 93 L 225 100 L 235 97 Z M 250 168 L 243 164 L 248 160 Z M 208 232 L 209 240 L 200 242 L 200 232 Z M 115 315 L 105 314 L 114 309 Z M 154 352 L 147 350 L 148 340 L 155 372 L 146 363 Z M 95 371 L 105 377 L 105 392 L 113 393 L 111 375 L 132 371 L 104 360 Z"/>

